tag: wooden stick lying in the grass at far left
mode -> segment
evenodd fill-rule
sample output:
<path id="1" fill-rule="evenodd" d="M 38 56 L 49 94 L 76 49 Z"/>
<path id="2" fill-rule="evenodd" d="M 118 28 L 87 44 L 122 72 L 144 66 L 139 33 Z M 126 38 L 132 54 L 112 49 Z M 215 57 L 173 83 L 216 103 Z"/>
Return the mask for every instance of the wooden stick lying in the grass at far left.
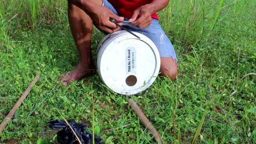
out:
<path id="1" fill-rule="evenodd" d="M 31 88 L 34 86 L 34 84 L 38 81 L 40 78 L 39 75 L 37 75 L 32 83 L 28 86 L 27 90 L 21 95 L 20 99 L 15 103 L 12 110 L 9 112 L 9 114 L 4 118 L 3 122 L 0 125 L 0 133 L 3 132 L 5 125 L 7 122 L 13 117 L 15 111 L 18 109 L 18 107 L 21 105 L 23 100 L 27 97 L 28 93 L 30 92 Z"/>

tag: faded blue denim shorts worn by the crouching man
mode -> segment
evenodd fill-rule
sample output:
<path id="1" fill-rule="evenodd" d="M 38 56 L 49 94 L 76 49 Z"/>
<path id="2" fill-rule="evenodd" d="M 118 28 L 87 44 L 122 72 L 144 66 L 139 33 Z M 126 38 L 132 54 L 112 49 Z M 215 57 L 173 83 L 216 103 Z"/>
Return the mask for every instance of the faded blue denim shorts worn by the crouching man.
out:
<path id="1" fill-rule="evenodd" d="M 119 15 L 113 5 L 111 5 L 107 0 L 103 0 L 103 6 L 107 7 L 109 10 L 113 11 L 116 15 Z M 125 18 L 128 20 L 128 18 Z M 152 19 L 152 22 L 149 27 L 140 29 L 136 26 L 123 26 L 131 31 L 146 35 L 148 38 L 153 41 L 158 49 L 160 57 L 171 57 L 177 60 L 173 45 L 170 39 L 164 33 L 161 25 L 158 23 L 158 20 Z M 122 30 L 122 29 L 121 29 Z"/>

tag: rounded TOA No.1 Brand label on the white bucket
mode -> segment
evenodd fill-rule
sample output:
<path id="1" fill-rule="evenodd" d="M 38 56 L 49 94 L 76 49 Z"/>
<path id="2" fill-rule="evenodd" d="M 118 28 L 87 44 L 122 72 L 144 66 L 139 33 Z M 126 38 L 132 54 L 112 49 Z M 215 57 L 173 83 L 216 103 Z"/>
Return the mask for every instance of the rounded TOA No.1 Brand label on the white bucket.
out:
<path id="1" fill-rule="evenodd" d="M 126 74 L 136 74 L 136 50 L 134 47 L 127 47 L 125 50 Z"/>

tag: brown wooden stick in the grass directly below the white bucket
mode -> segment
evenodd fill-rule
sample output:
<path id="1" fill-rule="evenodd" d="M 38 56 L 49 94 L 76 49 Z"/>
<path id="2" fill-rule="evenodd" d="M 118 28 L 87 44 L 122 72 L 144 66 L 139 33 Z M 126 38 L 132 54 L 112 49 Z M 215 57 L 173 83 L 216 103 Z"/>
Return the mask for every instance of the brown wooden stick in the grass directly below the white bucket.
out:
<path id="1" fill-rule="evenodd" d="M 140 107 L 136 104 L 136 102 L 133 99 L 129 99 L 128 102 L 130 103 L 131 108 L 135 113 L 137 114 L 138 117 L 141 119 L 141 123 L 147 127 L 147 130 L 153 135 L 154 139 L 156 142 L 161 142 L 165 143 L 160 134 L 157 132 L 155 127 L 149 122 L 148 118 L 143 114 L 142 110 Z"/>

